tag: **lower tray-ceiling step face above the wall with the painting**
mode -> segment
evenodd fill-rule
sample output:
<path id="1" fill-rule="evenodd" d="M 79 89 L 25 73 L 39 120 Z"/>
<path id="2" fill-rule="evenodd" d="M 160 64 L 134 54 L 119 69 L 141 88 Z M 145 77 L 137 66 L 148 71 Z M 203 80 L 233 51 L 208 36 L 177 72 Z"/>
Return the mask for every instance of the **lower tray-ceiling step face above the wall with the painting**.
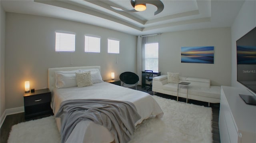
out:
<path id="1" fill-rule="evenodd" d="M 148 31 L 148 30 L 155 30 L 155 29 L 160 29 L 160 28 L 166 28 L 166 27 L 171 27 L 171 26 L 178 26 L 178 25 L 184 25 L 184 24 L 193 24 L 193 23 L 201 23 L 201 22 L 210 22 L 211 18 L 197 18 L 197 19 L 192 19 L 192 20 L 183 20 L 183 21 L 178 21 L 178 22 L 170 22 L 167 24 L 160 24 L 157 26 L 149 26 L 144 28 L 142 31 Z"/>

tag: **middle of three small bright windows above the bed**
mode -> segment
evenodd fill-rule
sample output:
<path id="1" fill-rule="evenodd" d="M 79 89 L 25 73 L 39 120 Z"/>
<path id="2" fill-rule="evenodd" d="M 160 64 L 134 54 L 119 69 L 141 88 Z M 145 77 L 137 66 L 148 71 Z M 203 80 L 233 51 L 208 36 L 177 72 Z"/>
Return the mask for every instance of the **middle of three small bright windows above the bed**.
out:
<path id="1" fill-rule="evenodd" d="M 95 36 L 84 36 L 84 52 L 100 53 L 100 38 Z"/>

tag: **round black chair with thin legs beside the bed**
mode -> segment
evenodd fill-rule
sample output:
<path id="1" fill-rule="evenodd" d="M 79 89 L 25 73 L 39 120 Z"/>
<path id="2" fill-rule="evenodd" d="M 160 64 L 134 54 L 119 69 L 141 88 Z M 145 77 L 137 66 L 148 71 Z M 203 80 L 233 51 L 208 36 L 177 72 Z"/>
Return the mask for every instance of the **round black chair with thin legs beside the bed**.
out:
<path id="1" fill-rule="evenodd" d="M 124 83 L 128 84 L 128 85 L 134 85 L 137 90 L 139 76 L 136 73 L 126 71 L 126 72 L 121 73 L 119 78 L 122 81 L 122 86 L 124 86 Z"/>

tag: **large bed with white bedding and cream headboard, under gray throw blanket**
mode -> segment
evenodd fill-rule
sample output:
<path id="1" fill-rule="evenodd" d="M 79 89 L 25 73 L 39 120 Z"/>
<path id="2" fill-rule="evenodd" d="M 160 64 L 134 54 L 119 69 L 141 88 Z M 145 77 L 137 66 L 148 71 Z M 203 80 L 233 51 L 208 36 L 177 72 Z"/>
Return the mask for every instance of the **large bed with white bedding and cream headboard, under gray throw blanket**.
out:
<path id="1" fill-rule="evenodd" d="M 141 118 L 135 125 L 141 123 L 148 117 L 162 117 L 163 111 L 148 93 L 137 91 L 134 89 L 121 87 L 111 83 L 102 81 L 101 75 L 92 75 L 96 81 L 90 86 L 77 87 L 64 85 L 58 87 L 60 79 L 57 79 L 56 73 L 59 71 L 69 72 L 76 70 L 91 70 L 96 69 L 100 74 L 100 66 L 86 66 L 86 67 L 67 67 L 67 68 L 49 68 L 48 69 L 48 88 L 52 92 L 51 107 L 53 113 L 56 114 L 63 101 L 70 99 L 110 99 L 118 101 L 132 102 Z M 93 81 L 93 80 L 92 80 Z M 61 129 L 60 118 L 56 117 L 58 130 Z M 102 125 L 98 125 L 92 121 L 80 121 L 76 124 L 72 133 L 66 140 L 67 143 L 110 143 L 114 141 L 114 136 Z"/>

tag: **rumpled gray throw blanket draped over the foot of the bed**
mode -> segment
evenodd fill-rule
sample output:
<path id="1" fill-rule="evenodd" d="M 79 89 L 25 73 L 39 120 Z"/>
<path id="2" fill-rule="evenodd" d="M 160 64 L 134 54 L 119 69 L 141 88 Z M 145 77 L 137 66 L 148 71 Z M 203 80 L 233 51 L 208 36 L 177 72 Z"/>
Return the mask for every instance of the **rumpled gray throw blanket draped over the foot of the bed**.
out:
<path id="1" fill-rule="evenodd" d="M 103 125 L 114 134 L 116 143 L 127 143 L 134 133 L 136 121 L 141 118 L 133 103 L 107 99 L 63 101 L 55 117 L 61 118 L 62 143 L 66 142 L 76 124 L 81 120 L 90 120 Z"/>

